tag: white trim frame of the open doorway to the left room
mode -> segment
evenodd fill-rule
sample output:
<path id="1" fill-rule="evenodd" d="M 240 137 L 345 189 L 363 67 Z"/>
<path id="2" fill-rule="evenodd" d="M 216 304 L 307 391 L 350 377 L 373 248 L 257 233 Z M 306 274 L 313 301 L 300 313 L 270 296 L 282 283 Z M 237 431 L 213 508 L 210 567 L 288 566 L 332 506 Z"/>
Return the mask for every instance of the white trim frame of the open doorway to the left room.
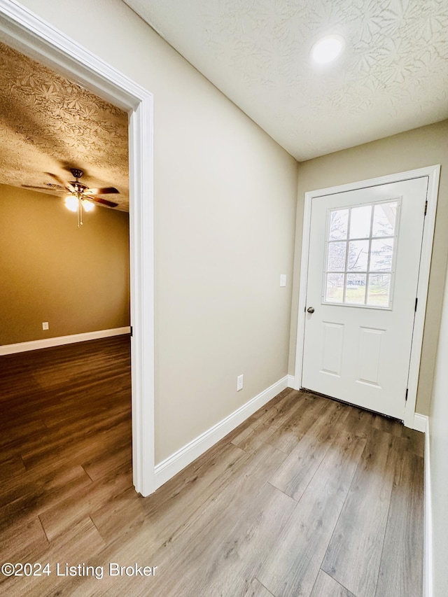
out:
<path id="1" fill-rule="evenodd" d="M 132 470 L 155 491 L 153 94 L 15 1 L 0 0 L 0 40 L 129 114 Z"/>

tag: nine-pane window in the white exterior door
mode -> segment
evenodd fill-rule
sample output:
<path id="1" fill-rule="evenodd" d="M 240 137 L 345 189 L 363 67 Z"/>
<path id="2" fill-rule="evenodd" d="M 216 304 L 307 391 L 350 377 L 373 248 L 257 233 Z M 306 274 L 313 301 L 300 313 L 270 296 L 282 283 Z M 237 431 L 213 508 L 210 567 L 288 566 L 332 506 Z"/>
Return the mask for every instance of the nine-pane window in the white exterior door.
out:
<path id="1" fill-rule="evenodd" d="M 323 302 L 391 309 L 400 199 L 328 211 Z"/>

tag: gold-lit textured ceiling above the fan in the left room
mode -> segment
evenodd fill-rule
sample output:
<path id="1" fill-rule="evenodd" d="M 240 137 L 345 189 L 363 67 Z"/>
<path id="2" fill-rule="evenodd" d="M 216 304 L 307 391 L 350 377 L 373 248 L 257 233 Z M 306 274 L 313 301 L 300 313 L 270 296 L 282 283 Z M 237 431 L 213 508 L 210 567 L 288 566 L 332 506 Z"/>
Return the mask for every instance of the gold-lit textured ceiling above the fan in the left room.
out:
<path id="1" fill-rule="evenodd" d="M 72 181 L 76 167 L 128 211 L 127 152 L 125 112 L 0 43 L 0 183 L 54 185 L 46 172 Z"/>

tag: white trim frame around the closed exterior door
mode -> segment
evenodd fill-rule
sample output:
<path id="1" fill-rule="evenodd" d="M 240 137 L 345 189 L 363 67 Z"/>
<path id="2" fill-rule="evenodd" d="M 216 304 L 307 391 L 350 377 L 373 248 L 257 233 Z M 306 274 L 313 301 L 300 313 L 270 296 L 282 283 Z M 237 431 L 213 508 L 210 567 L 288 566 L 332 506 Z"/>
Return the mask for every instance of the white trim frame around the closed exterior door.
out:
<path id="1" fill-rule="evenodd" d="M 369 178 L 366 181 L 357 181 L 345 185 L 337 185 L 305 192 L 304 195 L 304 217 L 302 229 L 302 258 L 300 260 L 300 281 L 299 281 L 299 304 L 297 316 L 297 344 L 295 353 L 295 389 L 302 387 L 302 363 L 304 354 L 304 322 L 305 307 L 307 299 L 307 277 L 309 258 L 309 233 L 311 227 L 311 202 L 312 199 L 325 195 L 334 195 L 339 192 L 358 190 L 388 183 L 408 181 L 412 178 L 428 176 L 428 207 L 423 225 L 423 241 L 420 255 L 419 283 L 417 286 L 417 297 L 419 298 L 418 308 L 414 319 L 414 333 L 412 335 L 411 356 L 409 361 L 408 393 L 405 405 L 404 423 L 406 427 L 415 428 L 414 415 L 416 405 L 417 386 L 419 383 L 419 370 L 421 360 L 421 347 L 423 342 L 423 330 L 425 325 L 426 302 L 428 300 L 428 282 L 433 252 L 433 238 L 435 227 L 435 212 L 437 209 L 437 192 L 439 188 L 440 164 L 428 166 L 415 170 L 388 174 L 377 178 Z"/>

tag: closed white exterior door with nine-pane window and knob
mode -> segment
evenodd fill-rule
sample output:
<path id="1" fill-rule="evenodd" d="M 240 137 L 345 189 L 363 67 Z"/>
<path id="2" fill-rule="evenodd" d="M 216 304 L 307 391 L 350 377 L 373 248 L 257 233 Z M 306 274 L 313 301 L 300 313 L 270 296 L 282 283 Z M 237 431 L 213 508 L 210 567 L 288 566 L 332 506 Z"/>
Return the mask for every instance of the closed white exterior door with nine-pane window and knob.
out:
<path id="1" fill-rule="evenodd" d="M 403 419 L 427 189 L 312 199 L 302 387 Z"/>

